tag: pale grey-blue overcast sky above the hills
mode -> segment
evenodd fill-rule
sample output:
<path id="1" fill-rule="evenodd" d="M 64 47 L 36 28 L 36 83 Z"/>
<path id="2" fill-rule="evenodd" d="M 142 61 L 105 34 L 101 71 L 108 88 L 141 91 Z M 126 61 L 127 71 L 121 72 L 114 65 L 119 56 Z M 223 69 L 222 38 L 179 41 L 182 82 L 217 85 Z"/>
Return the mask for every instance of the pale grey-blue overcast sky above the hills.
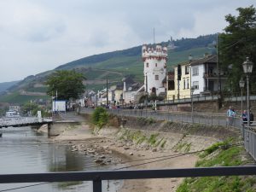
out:
<path id="1" fill-rule="evenodd" d="M 254 4 L 253 4 L 254 3 Z M 84 56 L 222 32 L 255 0 L 0 0 L 0 82 Z"/>

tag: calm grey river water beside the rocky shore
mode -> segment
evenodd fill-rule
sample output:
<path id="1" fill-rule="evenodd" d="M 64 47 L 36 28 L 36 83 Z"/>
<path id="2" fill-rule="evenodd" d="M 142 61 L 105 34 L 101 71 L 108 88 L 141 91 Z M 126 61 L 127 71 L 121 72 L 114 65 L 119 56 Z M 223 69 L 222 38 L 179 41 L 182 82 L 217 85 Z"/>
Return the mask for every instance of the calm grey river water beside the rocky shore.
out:
<path id="1" fill-rule="evenodd" d="M 88 155 L 71 152 L 71 148 L 60 143 L 50 143 L 47 135 L 38 134 L 30 127 L 8 127 L 0 129 L 0 174 L 36 172 L 80 172 L 106 170 L 113 167 L 96 166 Z M 91 168 L 94 166 L 93 168 Z M 92 182 L 0 184 L 1 191 L 14 192 L 78 192 L 92 191 Z M 102 182 L 102 191 L 115 192 L 122 182 Z M 19 189 L 15 189 L 19 188 Z M 9 190 L 12 189 L 12 190 Z"/>

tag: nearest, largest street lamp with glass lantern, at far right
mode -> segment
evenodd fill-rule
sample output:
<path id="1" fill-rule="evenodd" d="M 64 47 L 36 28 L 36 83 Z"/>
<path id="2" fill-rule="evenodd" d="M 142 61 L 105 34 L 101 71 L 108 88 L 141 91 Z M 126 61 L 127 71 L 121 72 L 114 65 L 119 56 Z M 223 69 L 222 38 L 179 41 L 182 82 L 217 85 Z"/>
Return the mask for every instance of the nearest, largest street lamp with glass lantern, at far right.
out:
<path id="1" fill-rule="evenodd" d="M 242 63 L 243 72 L 246 73 L 247 76 L 247 129 L 250 124 L 250 92 L 249 92 L 249 74 L 253 72 L 253 62 L 249 61 L 249 57 L 247 60 Z"/>

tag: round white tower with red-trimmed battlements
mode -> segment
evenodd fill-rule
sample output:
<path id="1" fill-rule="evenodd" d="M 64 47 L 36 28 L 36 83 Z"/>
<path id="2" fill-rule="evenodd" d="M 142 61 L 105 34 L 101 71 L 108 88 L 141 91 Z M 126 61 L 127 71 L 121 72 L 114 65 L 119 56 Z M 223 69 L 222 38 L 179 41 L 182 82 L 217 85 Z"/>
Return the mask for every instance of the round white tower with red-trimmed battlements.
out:
<path id="1" fill-rule="evenodd" d="M 156 45 L 150 48 L 143 45 L 144 86 L 148 95 L 155 93 L 158 96 L 166 92 L 163 79 L 166 78 L 167 59 L 166 47 Z"/>

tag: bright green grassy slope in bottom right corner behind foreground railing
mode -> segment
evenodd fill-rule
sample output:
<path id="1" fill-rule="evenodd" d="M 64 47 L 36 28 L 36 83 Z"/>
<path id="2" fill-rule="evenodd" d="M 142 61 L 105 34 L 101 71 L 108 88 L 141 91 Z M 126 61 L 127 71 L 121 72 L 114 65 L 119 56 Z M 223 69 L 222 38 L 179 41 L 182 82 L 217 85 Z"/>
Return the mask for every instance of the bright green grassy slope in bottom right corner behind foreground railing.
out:
<path id="1" fill-rule="evenodd" d="M 230 140 L 227 140 L 230 141 Z M 241 159 L 245 154 L 241 146 L 228 146 L 228 142 L 215 143 L 200 155 L 201 160 L 196 162 L 196 167 L 210 166 L 240 166 L 247 163 Z M 223 148 L 222 146 L 225 146 Z M 227 147 L 228 146 L 228 147 Z M 253 192 L 256 191 L 256 177 L 189 177 L 177 188 L 177 192 L 202 191 L 202 192 Z"/>

